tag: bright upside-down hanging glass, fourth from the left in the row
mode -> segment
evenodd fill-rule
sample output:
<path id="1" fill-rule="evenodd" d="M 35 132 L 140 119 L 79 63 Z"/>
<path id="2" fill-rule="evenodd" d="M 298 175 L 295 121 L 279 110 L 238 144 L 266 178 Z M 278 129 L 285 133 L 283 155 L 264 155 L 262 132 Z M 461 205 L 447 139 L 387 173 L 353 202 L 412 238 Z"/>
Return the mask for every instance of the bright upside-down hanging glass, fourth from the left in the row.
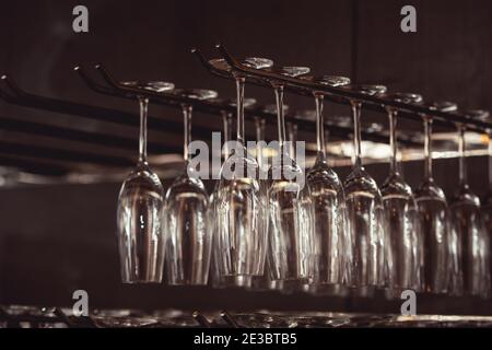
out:
<path id="1" fill-rule="evenodd" d="M 305 67 L 273 68 L 280 74 L 298 77 L 308 73 Z M 269 171 L 269 269 L 272 280 L 297 284 L 311 279 L 313 259 L 313 207 L 309 189 L 298 183 L 302 168 L 288 154 L 283 85 L 271 82 L 277 101 L 279 150 Z M 284 285 L 285 287 L 285 285 Z"/>

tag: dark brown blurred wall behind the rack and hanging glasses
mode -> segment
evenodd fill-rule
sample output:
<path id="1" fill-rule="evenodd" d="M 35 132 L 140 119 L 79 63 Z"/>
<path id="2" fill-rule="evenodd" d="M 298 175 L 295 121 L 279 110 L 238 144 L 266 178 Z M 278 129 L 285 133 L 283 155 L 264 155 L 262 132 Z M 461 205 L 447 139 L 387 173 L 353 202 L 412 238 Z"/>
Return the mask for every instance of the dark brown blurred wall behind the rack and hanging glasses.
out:
<path id="1" fill-rule="evenodd" d="M 90 11 L 90 33 L 72 32 L 72 9 Z M 400 31 L 400 9 L 417 8 L 417 33 Z M 460 106 L 490 108 L 492 93 L 490 1 L 0 1 L 0 72 L 8 72 L 28 92 L 93 105 L 137 112 L 128 101 L 97 95 L 72 71 L 104 62 L 121 79 L 167 80 L 180 88 L 215 89 L 233 96 L 231 82 L 211 77 L 189 54 L 191 47 L 214 56 L 219 39 L 238 56 L 263 56 L 280 65 L 308 66 L 317 73 L 345 74 L 355 82 L 384 83 L 391 91 L 421 93 L 426 100 L 449 100 Z M 248 96 L 272 103 L 272 92 L 250 88 Z M 296 108 L 313 101 L 286 96 Z M 180 120 L 178 110 L 151 106 L 151 113 Z M 332 114 L 347 107 L 327 105 Z M 94 132 L 134 138 L 137 129 L 73 116 L 13 107 L 0 102 L 0 117 L 40 120 Z M 137 115 L 136 115 L 137 117 Z M 364 115 L 364 122 L 380 115 Z M 219 118 L 196 115 L 195 125 L 219 129 Z M 407 132 L 420 125 L 401 120 Z M 250 126 L 248 132 L 251 131 Z M 21 144 L 54 145 L 97 154 L 128 151 L 75 141 L 0 133 Z M 150 140 L 179 147 L 181 136 L 151 130 Z M 1 154 L 0 154 L 1 155 Z M 4 154 L 8 156 L 8 154 Z M 43 160 L 37 160 L 46 162 Z M 487 189 L 485 159 L 469 162 L 473 190 Z M 54 164 L 46 162 L 46 164 Z M 387 165 L 368 171 L 378 183 Z M 417 186 L 420 162 L 405 165 Z M 339 170 L 344 177 L 347 168 Z M 450 196 L 457 184 L 456 160 L 437 161 L 435 177 Z M 168 180 L 164 182 L 168 185 Z M 85 289 L 93 306 L 273 307 L 398 312 L 397 304 L 348 303 L 305 295 L 210 291 L 119 283 L 115 209 L 119 184 L 43 185 L 0 189 L 0 303 L 71 303 Z M 490 304 L 458 300 L 444 304 L 425 299 L 425 310 L 446 313 L 492 313 Z"/>

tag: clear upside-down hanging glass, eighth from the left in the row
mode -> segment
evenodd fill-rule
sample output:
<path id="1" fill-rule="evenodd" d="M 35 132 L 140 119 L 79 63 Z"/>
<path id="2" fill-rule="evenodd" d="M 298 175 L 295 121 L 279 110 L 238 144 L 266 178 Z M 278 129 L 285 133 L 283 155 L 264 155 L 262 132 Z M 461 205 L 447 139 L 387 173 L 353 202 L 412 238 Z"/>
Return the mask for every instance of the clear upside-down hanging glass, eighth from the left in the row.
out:
<path id="1" fill-rule="evenodd" d="M 453 112 L 457 109 L 452 102 L 434 102 L 430 108 Z M 414 192 L 421 235 L 421 277 L 425 292 L 446 293 L 449 281 L 449 262 L 457 257 L 450 250 L 447 222 L 447 201 L 444 191 L 432 177 L 432 117 L 421 115 L 424 124 L 424 178 Z M 422 271 L 423 270 L 423 271 Z"/>

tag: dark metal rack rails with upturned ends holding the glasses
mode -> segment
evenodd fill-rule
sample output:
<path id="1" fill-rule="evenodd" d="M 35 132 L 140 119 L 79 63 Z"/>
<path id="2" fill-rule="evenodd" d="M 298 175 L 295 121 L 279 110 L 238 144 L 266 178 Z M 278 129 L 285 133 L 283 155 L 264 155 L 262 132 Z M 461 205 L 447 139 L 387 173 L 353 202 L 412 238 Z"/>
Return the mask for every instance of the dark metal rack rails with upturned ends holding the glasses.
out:
<path id="1" fill-rule="evenodd" d="M 225 70 L 218 69 L 212 66 L 209 60 L 198 50 L 192 49 L 200 63 L 212 74 L 234 80 L 236 75 L 246 78 L 246 82 L 259 86 L 271 88 L 272 82 L 281 83 L 285 90 L 304 96 L 313 96 L 314 92 L 325 93 L 328 101 L 348 104 L 350 98 L 355 98 L 363 103 L 364 108 L 385 113 L 385 106 L 397 107 L 401 117 L 421 120 L 422 115 L 432 116 L 436 124 L 454 126 L 456 124 L 465 125 L 467 130 L 480 133 L 489 133 L 492 130 L 492 122 L 489 120 L 477 119 L 472 114 L 466 112 L 442 112 L 436 110 L 431 104 L 410 104 L 399 101 L 394 101 L 387 95 L 371 96 L 347 86 L 332 88 L 324 85 L 315 81 L 301 78 L 285 77 L 274 71 L 259 70 L 246 67 L 234 58 L 223 45 L 216 46 L 221 55 L 221 59 L 226 62 L 229 67 Z M 210 101 L 199 101 L 185 95 L 178 95 L 166 92 L 155 92 L 144 89 L 124 85 L 119 80 L 115 79 L 113 74 L 103 65 L 96 65 L 94 71 L 98 73 L 99 81 L 94 80 L 91 74 L 82 66 L 75 66 L 74 71 L 82 79 L 82 81 L 94 92 L 118 98 L 134 100 L 138 96 L 144 96 L 152 103 L 180 108 L 183 104 L 192 106 L 197 112 L 220 116 L 224 113 L 233 114 L 236 107 L 232 101 L 214 98 Z M 65 101 L 61 98 L 46 97 L 31 94 L 21 89 L 9 75 L 3 74 L 0 83 L 0 98 L 4 102 L 39 110 L 46 110 L 54 114 L 63 114 L 71 117 L 84 117 L 93 120 L 116 122 L 119 125 L 137 127 L 139 125 L 137 114 L 127 113 L 106 107 L 93 106 L 89 104 Z M 245 108 L 246 119 L 254 120 L 254 118 L 262 118 L 267 124 L 274 125 L 276 113 L 268 110 L 265 106 L 255 105 Z M 325 128 L 335 138 L 350 139 L 353 130 L 350 125 L 333 122 L 332 120 L 325 121 Z M 83 120 L 75 120 L 74 125 L 83 122 Z M 298 113 L 289 112 L 285 116 L 285 121 L 295 125 L 298 130 L 306 132 L 314 132 L 316 125 L 314 120 L 308 120 Z M 155 116 L 149 117 L 149 128 L 154 130 L 165 130 L 181 135 L 183 125 L 176 120 L 168 118 L 160 118 Z M 67 128 L 60 126 L 52 126 L 44 124 L 40 120 L 32 121 L 17 119 L 14 116 L 0 116 L 0 129 L 4 131 L 23 132 L 33 136 L 49 137 L 58 140 L 80 141 L 102 147 L 116 147 L 121 150 L 130 150 L 136 148 L 137 139 L 129 137 L 121 137 L 113 135 L 110 131 L 86 131 L 77 128 Z M 211 132 L 216 131 L 211 127 L 203 127 L 200 125 L 194 126 L 194 135 L 198 139 L 209 140 Z M 363 129 L 362 137 L 364 140 L 387 143 L 388 135 L 384 131 L 372 130 L 370 128 Z M 266 140 L 270 141 L 270 140 Z M 421 140 L 414 135 L 401 132 L 398 136 L 398 142 L 402 148 L 421 147 Z M 165 144 L 161 141 L 149 142 L 149 152 L 154 154 L 165 153 L 180 153 L 180 148 L 176 144 Z M 43 161 L 49 161 L 49 165 Z M 48 147 L 36 145 L 35 148 L 28 144 L 20 144 L 12 140 L 0 140 L 0 164 L 4 166 L 14 166 L 27 172 L 60 175 L 70 172 L 71 168 L 66 163 L 87 163 L 96 167 L 113 167 L 126 168 L 132 164 L 131 156 L 95 154 L 86 150 L 74 151 L 66 150 L 63 147 Z"/>

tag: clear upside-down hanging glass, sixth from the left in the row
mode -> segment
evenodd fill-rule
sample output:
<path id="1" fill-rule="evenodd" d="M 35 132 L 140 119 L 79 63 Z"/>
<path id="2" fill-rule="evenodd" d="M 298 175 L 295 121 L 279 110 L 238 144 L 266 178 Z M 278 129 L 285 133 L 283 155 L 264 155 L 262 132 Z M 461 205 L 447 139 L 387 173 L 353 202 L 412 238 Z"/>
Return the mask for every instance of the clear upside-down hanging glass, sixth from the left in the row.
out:
<path id="1" fill-rule="evenodd" d="M 350 85 L 359 93 L 375 95 L 386 92 L 382 85 Z M 364 170 L 361 158 L 361 107 L 356 100 L 350 101 L 354 122 L 354 165 L 343 183 L 347 205 L 348 246 L 352 247 L 352 266 L 348 272 L 349 284 L 374 287 L 384 284 L 383 202 L 376 182 Z"/>

